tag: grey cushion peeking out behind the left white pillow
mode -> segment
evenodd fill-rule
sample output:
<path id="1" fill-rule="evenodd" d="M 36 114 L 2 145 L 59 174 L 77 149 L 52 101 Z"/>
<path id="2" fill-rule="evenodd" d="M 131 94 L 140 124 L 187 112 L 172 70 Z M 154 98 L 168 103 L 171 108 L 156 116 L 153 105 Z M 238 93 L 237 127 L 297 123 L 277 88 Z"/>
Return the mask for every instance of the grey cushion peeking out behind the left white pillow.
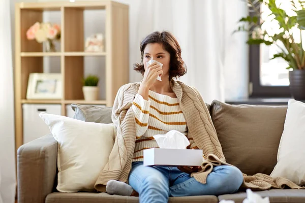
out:
<path id="1" fill-rule="evenodd" d="M 75 111 L 74 118 L 77 120 L 94 123 L 112 123 L 112 107 L 72 104 L 71 108 Z"/>

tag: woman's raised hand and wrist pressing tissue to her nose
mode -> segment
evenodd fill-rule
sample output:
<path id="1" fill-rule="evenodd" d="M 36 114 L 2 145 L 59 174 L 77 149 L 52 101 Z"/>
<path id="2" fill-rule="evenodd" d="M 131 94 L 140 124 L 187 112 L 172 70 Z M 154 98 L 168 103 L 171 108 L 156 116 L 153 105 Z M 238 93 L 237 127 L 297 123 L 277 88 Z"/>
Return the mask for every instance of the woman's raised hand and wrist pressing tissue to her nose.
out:
<path id="1" fill-rule="evenodd" d="M 140 94 L 144 99 L 148 100 L 149 88 L 154 85 L 158 76 L 162 76 L 162 74 L 163 71 L 161 65 L 159 65 L 157 62 L 151 63 L 144 73 L 143 81 L 140 85 L 138 94 Z"/>

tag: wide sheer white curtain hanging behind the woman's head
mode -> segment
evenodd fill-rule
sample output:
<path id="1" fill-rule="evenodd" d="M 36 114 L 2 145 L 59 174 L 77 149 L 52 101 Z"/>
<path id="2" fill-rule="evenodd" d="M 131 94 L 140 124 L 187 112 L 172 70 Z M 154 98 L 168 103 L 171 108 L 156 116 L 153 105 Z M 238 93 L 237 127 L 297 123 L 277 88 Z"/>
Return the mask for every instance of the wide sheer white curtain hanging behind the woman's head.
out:
<path id="1" fill-rule="evenodd" d="M 188 73 L 181 81 L 196 87 L 204 100 L 248 96 L 246 33 L 232 31 L 247 14 L 240 0 L 119 0 L 129 4 L 130 82 L 142 76 L 132 70 L 140 62 L 140 42 L 153 31 L 168 30 L 177 38 Z"/>

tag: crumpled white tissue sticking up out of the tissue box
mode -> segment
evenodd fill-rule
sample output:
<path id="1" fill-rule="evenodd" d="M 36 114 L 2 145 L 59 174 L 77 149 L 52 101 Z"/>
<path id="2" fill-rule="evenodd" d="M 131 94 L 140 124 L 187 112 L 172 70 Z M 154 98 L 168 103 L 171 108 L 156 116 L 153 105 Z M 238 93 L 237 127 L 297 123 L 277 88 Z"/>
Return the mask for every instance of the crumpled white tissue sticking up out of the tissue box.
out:
<path id="1" fill-rule="evenodd" d="M 190 145 L 185 134 L 177 130 L 170 130 L 166 134 L 157 134 L 154 138 L 159 147 L 165 149 L 186 149 Z"/>

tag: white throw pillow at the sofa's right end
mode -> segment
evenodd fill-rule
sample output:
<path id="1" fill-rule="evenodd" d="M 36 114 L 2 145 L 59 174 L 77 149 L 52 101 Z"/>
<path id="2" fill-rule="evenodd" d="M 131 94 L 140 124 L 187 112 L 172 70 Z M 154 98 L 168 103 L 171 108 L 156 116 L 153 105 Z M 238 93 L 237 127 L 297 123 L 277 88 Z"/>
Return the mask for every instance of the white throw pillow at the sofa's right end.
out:
<path id="1" fill-rule="evenodd" d="M 305 183 L 305 104 L 290 99 L 272 178 L 284 177 L 297 185 Z"/>

